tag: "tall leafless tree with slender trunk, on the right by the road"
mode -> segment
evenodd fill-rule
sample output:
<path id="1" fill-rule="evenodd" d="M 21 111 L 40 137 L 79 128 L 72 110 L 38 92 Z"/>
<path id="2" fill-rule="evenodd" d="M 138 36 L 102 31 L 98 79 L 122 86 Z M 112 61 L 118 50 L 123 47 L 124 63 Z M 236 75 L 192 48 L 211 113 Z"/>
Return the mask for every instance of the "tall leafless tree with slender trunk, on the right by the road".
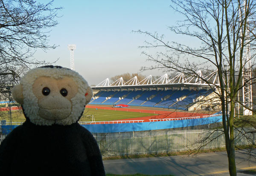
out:
<path id="1" fill-rule="evenodd" d="M 217 70 L 219 83 L 215 87 L 216 98 L 221 102 L 222 122 L 230 176 L 236 176 L 234 113 L 239 91 L 252 79 L 243 82 L 244 73 L 249 72 L 255 60 L 256 2 L 252 0 L 172 0 L 172 9 L 183 15 L 184 20 L 169 29 L 194 40 L 193 45 L 166 41 L 164 35 L 147 31 L 134 31 L 149 37 L 142 48 L 164 48 L 151 55 L 143 52 L 148 60 L 156 64 L 148 69 L 165 69 L 187 75 L 196 75 L 199 69 Z M 150 41 L 152 39 L 152 41 Z M 199 42 L 198 47 L 196 43 Z M 246 54 L 250 51 L 250 57 Z M 250 65 L 249 62 L 252 62 Z M 207 81 L 207 80 L 205 80 Z M 214 89 L 213 89 L 214 90 Z M 250 102 L 252 103 L 252 102 Z M 255 133 L 256 131 L 250 131 Z"/>

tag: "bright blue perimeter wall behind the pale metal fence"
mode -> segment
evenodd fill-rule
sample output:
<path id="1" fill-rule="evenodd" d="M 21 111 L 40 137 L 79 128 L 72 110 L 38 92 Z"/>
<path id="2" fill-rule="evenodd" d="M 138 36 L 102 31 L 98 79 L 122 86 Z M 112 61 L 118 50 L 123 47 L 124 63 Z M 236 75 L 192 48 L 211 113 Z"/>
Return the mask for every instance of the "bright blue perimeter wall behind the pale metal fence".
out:
<path id="1" fill-rule="evenodd" d="M 119 124 L 92 124 L 82 125 L 91 133 L 116 133 L 128 131 L 148 131 L 148 130 L 161 130 L 169 128 L 182 128 L 198 125 L 207 125 L 216 122 L 222 122 L 222 116 L 207 117 L 200 119 L 185 119 L 174 121 L 161 121 L 161 122 L 141 122 L 141 123 L 119 123 Z M 12 125 L 12 129 L 18 125 Z M 8 134 L 11 132 L 10 125 L 2 125 L 2 133 Z"/>

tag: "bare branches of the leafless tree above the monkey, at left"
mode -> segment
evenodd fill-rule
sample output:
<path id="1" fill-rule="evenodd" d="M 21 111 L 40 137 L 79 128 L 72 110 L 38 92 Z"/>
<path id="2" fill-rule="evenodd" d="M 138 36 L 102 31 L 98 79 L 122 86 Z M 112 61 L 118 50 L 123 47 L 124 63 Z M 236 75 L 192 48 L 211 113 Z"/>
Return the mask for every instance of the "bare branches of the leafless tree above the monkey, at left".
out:
<path id="1" fill-rule="evenodd" d="M 45 63 L 33 57 L 37 49 L 56 48 L 47 37 L 61 8 L 52 8 L 52 2 L 0 0 L 0 94 L 30 67 Z"/>

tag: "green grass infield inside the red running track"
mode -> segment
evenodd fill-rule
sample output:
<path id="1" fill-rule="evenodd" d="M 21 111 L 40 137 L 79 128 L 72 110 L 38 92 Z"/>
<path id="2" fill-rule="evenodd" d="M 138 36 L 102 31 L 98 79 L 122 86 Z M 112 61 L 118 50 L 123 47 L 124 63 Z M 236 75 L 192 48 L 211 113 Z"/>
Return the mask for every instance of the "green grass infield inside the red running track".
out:
<path id="1" fill-rule="evenodd" d="M 0 120 L 6 120 L 6 122 L 9 122 L 8 113 L 8 111 L 1 111 Z M 94 115 L 95 121 L 110 121 L 143 116 L 153 116 L 154 114 L 85 108 L 84 114 L 79 121 L 92 121 L 91 117 L 87 117 L 88 115 Z M 25 122 L 25 116 L 23 115 L 22 111 L 12 111 L 12 122 Z"/>

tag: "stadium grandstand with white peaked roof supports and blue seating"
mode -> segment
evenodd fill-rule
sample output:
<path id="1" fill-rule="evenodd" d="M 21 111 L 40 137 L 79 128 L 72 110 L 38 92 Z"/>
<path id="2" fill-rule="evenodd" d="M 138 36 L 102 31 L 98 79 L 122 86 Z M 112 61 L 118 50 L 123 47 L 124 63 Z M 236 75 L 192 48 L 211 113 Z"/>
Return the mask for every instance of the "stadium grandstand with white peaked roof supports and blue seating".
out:
<path id="1" fill-rule="evenodd" d="M 216 100 L 206 101 L 214 97 L 213 90 L 215 90 L 216 85 L 218 85 L 216 71 L 207 75 L 207 77 L 204 77 L 201 71 L 198 71 L 197 76 L 186 77 L 184 74 L 178 74 L 172 79 L 164 74 L 155 81 L 149 75 L 140 82 L 136 76 L 128 82 L 124 82 L 123 78 L 120 77 L 111 83 L 107 78 L 92 87 L 93 90 L 98 90 L 98 92 L 93 95 L 89 104 L 123 104 L 185 111 L 209 110 L 220 107 L 220 103 Z"/>

